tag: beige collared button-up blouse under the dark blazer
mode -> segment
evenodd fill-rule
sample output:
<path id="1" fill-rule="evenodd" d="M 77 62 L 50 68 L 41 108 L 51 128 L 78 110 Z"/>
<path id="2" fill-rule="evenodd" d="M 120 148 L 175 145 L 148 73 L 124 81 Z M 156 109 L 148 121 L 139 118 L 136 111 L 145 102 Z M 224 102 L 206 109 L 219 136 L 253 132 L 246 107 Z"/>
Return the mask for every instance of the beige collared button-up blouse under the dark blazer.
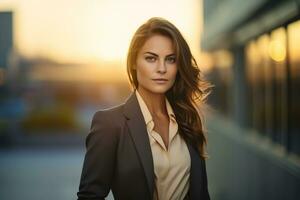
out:
<path id="1" fill-rule="evenodd" d="M 183 200 L 189 189 L 191 158 L 185 141 L 178 134 L 173 109 L 165 98 L 170 119 L 167 149 L 161 136 L 153 130 L 154 121 L 145 101 L 138 91 L 135 91 L 147 126 L 152 151 L 155 173 L 154 200 Z"/>

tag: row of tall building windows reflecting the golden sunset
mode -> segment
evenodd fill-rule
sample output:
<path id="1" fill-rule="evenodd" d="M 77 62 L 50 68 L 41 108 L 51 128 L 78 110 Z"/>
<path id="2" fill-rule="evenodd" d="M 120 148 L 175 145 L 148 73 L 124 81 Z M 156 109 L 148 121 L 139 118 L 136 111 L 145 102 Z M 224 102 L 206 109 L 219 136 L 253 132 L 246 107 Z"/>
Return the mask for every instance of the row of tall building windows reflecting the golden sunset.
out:
<path id="1" fill-rule="evenodd" d="M 300 20 L 245 48 L 249 127 L 300 154 Z"/>

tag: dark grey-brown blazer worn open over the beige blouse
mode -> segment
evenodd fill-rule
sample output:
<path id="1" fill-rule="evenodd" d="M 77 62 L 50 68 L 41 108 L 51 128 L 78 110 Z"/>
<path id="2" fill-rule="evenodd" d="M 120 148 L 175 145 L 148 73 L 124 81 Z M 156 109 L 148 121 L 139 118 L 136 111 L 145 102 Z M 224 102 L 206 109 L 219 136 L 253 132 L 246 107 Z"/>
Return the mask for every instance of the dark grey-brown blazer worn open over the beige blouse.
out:
<path id="1" fill-rule="evenodd" d="M 205 160 L 187 146 L 191 156 L 189 199 L 208 200 Z M 115 200 L 152 200 L 154 177 L 146 124 L 132 92 L 125 103 L 93 116 L 78 200 L 104 199 L 110 189 Z"/>

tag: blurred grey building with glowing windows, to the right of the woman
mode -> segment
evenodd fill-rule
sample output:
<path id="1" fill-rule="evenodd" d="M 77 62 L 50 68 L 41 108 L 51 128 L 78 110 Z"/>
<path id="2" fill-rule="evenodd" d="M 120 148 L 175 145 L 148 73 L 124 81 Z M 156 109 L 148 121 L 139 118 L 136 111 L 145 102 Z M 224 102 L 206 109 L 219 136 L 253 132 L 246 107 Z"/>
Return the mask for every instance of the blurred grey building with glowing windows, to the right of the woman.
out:
<path id="1" fill-rule="evenodd" d="M 300 199 L 298 0 L 204 0 L 212 199 Z"/>

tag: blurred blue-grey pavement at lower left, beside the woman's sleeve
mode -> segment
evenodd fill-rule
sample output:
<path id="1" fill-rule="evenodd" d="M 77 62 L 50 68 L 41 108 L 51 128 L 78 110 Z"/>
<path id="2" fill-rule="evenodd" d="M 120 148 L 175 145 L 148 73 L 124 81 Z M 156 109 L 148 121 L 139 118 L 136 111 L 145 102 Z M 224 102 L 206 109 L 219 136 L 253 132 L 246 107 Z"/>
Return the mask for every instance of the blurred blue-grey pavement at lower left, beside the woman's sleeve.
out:
<path id="1" fill-rule="evenodd" d="M 0 150 L 0 199 L 77 199 L 83 159 L 80 148 Z"/>

